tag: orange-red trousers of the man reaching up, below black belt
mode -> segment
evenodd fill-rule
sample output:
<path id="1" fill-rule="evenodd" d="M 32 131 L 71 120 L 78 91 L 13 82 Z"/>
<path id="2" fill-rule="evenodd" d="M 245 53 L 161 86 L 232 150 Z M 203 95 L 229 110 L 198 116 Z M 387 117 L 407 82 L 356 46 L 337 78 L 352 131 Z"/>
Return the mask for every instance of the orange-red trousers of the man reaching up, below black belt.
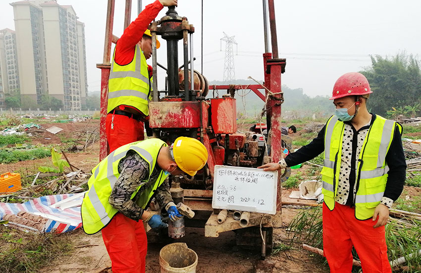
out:
<path id="1" fill-rule="evenodd" d="M 145 139 L 143 121 L 125 115 L 107 114 L 105 132 L 110 153 L 118 147 Z"/>

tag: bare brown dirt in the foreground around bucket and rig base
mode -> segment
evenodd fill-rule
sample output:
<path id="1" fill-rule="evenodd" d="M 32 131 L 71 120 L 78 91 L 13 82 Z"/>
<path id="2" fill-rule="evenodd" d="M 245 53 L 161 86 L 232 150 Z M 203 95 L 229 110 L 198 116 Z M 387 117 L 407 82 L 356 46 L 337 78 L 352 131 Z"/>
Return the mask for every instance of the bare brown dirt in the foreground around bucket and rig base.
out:
<path id="1" fill-rule="evenodd" d="M 283 192 L 283 198 L 288 199 L 291 190 Z M 300 212 L 300 209 L 282 209 L 282 228 L 274 230 L 275 245 L 289 244 L 286 240 L 286 228 L 289 222 Z M 86 235 L 81 229 L 73 233 L 75 246 L 93 245 L 75 248 L 68 256 L 53 261 L 52 265 L 42 269 L 41 273 L 110 273 L 110 260 L 105 250 L 101 233 Z M 245 250 L 236 246 L 235 234 L 232 231 L 221 233 L 218 238 L 206 238 L 203 228 L 186 228 L 184 238 L 177 242 L 186 242 L 199 257 L 197 272 L 238 272 L 252 273 L 254 263 L 260 261 L 260 249 Z M 148 243 L 147 273 L 159 272 L 159 251 L 166 243 Z M 275 272 L 302 273 L 312 265 L 313 273 L 328 272 L 327 266 L 320 263 L 320 257 L 297 247 L 281 251 L 266 258 L 274 264 Z"/>

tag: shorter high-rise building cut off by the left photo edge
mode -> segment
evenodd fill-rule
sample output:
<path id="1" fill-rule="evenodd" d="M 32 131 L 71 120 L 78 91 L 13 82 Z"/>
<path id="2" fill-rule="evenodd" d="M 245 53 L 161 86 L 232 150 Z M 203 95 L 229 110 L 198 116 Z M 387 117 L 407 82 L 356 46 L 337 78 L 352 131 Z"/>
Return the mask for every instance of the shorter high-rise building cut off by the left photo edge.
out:
<path id="1" fill-rule="evenodd" d="M 19 65 L 16 50 L 16 33 L 0 30 L 0 107 L 4 107 L 4 94 L 19 95 Z"/>

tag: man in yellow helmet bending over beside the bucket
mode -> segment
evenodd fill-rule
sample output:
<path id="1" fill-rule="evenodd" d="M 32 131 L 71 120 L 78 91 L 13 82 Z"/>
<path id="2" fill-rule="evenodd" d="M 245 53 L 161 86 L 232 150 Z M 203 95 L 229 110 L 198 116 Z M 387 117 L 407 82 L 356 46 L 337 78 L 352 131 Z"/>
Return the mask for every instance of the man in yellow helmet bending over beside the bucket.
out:
<path id="1" fill-rule="evenodd" d="M 195 175 L 208 161 L 205 146 L 179 137 L 168 146 L 158 138 L 123 145 L 93 170 L 82 202 L 82 226 L 87 234 L 102 231 L 112 272 L 145 272 L 147 238 L 143 222 L 168 226 L 146 210 L 155 196 L 174 221 L 182 217 L 169 192 L 168 175 Z"/>

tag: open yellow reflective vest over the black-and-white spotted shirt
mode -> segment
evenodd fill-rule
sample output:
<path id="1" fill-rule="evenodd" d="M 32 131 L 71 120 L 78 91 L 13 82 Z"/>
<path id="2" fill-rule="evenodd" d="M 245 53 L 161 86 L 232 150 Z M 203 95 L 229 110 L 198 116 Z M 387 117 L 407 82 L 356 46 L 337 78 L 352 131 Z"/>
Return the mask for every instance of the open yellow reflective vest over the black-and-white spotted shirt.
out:
<path id="1" fill-rule="evenodd" d="M 371 218 L 374 209 L 380 204 L 386 188 L 386 154 L 392 143 L 395 126 L 402 126 L 392 120 L 376 115 L 368 129 L 361 148 L 356 169 L 357 194 L 355 195 L 355 217 L 360 220 Z M 322 193 L 324 203 L 333 210 L 338 190 L 338 177 L 341 166 L 342 140 L 345 123 L 332 116 L 326 123 L 324 133 L 324 163 L 322 174 Z"/>

